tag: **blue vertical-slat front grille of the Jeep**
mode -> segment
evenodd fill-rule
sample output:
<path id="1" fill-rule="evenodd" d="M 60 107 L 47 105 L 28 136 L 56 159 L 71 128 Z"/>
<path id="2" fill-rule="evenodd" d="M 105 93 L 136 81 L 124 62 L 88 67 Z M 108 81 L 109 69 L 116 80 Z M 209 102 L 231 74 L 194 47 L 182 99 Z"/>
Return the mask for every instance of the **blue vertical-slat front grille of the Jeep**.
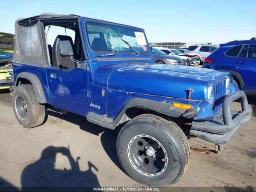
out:
<path id="1" fill-rule="evenodd" d="M 213 86 L 214 91 L 214 106 L 212 107 L 214 116 L 219 114 L 226 95 L 226 81 L 219 82 Z"/>

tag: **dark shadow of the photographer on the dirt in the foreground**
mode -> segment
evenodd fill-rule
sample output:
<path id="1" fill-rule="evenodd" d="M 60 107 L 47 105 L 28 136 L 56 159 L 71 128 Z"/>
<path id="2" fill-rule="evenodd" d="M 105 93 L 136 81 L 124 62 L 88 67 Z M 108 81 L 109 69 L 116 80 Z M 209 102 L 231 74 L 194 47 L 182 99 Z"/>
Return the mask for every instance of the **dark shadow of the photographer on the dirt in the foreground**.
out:
<path id="1" fill-rule="evenodd" d="M 68 158 L 71 165 L 70 170 L 54 168 L 57 153 Z M 0 178 L 0 191 L 85 191 L 88 188 L 84 187 L 100 187 L 98 178 L 94 174 L 95 171 L 98 172 L 96 166 L 88 161 L 88 170 L 81 171 L 79 159 L 80 157 L 77 157 L 76 160 L 72 157 L 69 148 L 48 146 L 42 151 L 39 160 L 26 166 L 22 171 L 22 188 L 14 188 Z"/>

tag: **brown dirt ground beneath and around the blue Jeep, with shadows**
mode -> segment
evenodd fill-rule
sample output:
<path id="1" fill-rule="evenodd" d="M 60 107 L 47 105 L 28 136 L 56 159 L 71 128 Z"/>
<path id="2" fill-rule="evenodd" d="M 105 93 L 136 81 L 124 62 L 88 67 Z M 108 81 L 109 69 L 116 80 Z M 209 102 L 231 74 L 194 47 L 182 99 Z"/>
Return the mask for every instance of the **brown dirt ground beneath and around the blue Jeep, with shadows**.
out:
<path id="1" fill-rule="evenodd" d="M 249 102 L 254 114 L 230 138 L 224 152 L 192 152 L 186 173 L 174 186 L 255 190 L 256 100 Z M 240 103 L 232 107 L 239 109 Z M 117 131 L 100 128 L 82 116 L 53 111 L 48 111 L 44 125 L 23 128 L 14 116 L 8 91 L 0 93 L 0 117 L 0 186 L 141 186 L 118 162 Z M 189 143 L 214 149 L 198 138 Z"/>

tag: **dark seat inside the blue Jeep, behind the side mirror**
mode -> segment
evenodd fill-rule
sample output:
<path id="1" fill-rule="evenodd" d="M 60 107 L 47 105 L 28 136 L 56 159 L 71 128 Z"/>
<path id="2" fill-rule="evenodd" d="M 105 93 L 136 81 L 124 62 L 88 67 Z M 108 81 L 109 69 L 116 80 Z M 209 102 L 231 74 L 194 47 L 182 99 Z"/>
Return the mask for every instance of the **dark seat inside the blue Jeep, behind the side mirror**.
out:
<path id="1" fill-rule="evenodd" d="M 70 36 L 58 35 L 52 47 L 52 65 L 59 68 L 73 69 L 76 67 L 76 63 L 70 59 L 71 58 L 70 56 L 66 56 L 66 57 L 61 56 L 60 50 L 58 49 L 58 42 L 64 41 L 64 40 L 70 41 L 73 52 L 74 52 L 74 59 L 79 60 L 72 38 Z"/>

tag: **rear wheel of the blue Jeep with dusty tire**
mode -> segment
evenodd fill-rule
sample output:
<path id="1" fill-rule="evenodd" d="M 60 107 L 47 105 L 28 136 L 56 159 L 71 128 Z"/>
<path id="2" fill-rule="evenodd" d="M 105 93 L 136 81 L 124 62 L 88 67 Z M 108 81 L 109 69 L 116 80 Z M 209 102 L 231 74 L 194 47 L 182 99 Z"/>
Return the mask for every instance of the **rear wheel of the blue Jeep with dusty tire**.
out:
<path id="1" fill-rule="evenodd" d="M 40 126 L 45 118 L 45 106 L 38 103 L 32 85 L 17 86 L 12 96 L 12 107 L 18 122 L 24 128 Z"/>

